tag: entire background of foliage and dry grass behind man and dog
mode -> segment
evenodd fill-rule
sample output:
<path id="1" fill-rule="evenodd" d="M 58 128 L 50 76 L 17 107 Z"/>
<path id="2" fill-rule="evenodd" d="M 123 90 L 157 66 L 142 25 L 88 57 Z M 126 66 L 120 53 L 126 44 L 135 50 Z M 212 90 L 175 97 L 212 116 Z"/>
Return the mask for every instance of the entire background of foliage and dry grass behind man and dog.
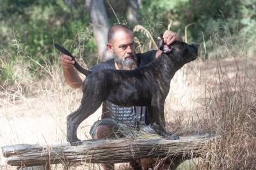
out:
<path id="1" fill-rule="evenodd" d="M 166 29 L 200 45 L 198 59 L 172 79 L 166 121 L 180 135 L 214 131 L 221 141 L 187 168 L 255 168 L 256 0 L 0 4 L 0 146 L 66 143 L 66 117 L 79 107 L 81 90 L 65 83 L 54 43 L 88 68 L 108 59 L 107 31 L 120 23 L 134 31 L 137 52 L 156 49 L 154 40 Z M 79 127 L 81 139 L 90 139 L 88 130 L 100 113 L 101 108 Z M 0 153 L 0 169 L 10 168 Z"/>

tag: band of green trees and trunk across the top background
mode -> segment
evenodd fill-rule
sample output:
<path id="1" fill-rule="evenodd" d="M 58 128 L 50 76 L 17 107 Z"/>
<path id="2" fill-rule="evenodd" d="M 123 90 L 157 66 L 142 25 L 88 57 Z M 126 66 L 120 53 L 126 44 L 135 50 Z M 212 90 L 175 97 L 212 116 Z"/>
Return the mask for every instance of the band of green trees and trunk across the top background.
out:
<path id="1" fill-rule="evenodd" d="M 26 51 L 37 62 L 31 64 L 35 68 L 45 59 L 58 60 L 52 46 L 58 42 L 90 66 L 108 59 L 102 56 L 106 56 L 106 32 L 111 24 L 120 22 L 131 28 L 140 24 L 156 37 L 170 20 L 171 29 L 182 36 L 193 23 L 188 27 L 188 42 L 202 43 L 204 35 L 206 49 L 211 51 L 212 33 L 255 40 L 255 5 L 255 0 L 1 0 L 0 48 L 5 54 L 1 59 L 9 56 L 12 68 L 17 54 Z M 24 58 L 26 61 L 26 54 Z M 2 79 L 10 68 L 0 67 Z"/>

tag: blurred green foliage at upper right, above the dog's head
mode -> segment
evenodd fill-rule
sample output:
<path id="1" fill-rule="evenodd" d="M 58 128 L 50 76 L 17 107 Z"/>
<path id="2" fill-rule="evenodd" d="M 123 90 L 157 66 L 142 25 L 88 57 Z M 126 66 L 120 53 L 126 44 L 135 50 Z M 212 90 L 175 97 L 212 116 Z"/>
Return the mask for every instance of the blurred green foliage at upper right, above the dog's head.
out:
<path id="1" fill-rule="evenodd" d="M 147 20 L 161 23 L 157 27 L 161 33 L 168 27 L 170 20 L 173 21 L 171 30 L 179 31 L 180 35 L 184 35 L 185 27 L 193 23 L 188 27 L 188 43 L 204 43 L 207 58 L 212 50 L 211 36 L 214 34 L 239 36 L 241 41 L 247 38 L 255 40 L 255 7 L 256 0 L 149 0 L 143 1 L 141 11 L 148 17 Z"/>

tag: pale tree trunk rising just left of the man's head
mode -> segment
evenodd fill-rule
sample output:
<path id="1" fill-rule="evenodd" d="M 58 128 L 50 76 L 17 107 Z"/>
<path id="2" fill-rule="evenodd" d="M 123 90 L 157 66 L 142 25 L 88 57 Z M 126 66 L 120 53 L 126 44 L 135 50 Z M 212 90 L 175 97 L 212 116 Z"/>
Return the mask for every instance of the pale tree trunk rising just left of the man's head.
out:
<path id="1" fill-rule="evenodd" d="M 100 61 L 113 58 L 106 48 L 109 21 L 103 0 L 86 0 L 86 6 L 90 14 L 90 22 L 93 27 L 93 35 L 99 52 Z"/>

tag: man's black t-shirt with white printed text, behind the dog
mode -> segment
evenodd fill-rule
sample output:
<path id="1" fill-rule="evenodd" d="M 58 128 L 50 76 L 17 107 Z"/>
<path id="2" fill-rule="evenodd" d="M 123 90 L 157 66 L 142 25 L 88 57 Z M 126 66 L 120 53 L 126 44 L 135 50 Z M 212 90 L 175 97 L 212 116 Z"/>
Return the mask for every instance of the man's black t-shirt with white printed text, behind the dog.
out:
<path id="1" fill-rule="evenodd" d="M 137 61 L 138 67 L 145 66 L 156 58 L 157 50 L 150 50 L 145 53 L 138 53 Z M 109 59 L 106 62 L 100 63 L 90 68 L 90 71 L 97 72 L 99 70 L 113 69 L 115 70 L 114 59 Z M 147 111 L 146 107 L 134 106 L 134 107 L 123 107 L 115 105 L 108 100 L 102 104 L 102 115 L 101 118 L 111 118 L 117 123 L 125 123 L 131 126 L 136 125 L 136 121 L 142 121 L 145 123 Z"/>

